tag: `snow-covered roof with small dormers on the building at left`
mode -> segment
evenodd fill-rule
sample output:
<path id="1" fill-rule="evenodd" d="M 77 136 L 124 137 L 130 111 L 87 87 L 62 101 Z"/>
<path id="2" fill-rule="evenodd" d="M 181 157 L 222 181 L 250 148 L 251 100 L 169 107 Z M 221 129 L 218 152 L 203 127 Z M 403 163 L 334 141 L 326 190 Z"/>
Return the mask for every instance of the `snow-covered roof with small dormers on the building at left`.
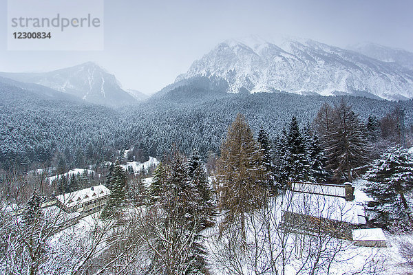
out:
<path id="1" fill-rule="evenodd" d="M 99 197 L 105 197 L 110 194 L 110 190 L 103 185 L 92 186 L 75 192 L 65 193 L 64 195 L 57 196 L 63 205 L 68 208 L 76 206 L 80 203 L 85 203 L 87 201 L 92 201 L 93 199 L 98 199 Z"/>

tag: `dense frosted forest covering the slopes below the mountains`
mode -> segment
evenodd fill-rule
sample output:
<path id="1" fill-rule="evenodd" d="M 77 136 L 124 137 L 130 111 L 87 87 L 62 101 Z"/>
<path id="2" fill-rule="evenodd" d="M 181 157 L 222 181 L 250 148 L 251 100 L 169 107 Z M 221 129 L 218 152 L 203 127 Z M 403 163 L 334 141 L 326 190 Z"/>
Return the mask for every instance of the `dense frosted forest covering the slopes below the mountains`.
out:
<path id="1" fill-rule="evenodd" d="M 233 95 L 193 85 L 177 87 L 147 102 L 111 109 L 2 85 L 0 162 L 3 168 L 30 168 L 63 159 L 67 168 L 84 167 L 114 159 L 116 151 L 127 148 L 162 159 L 172 144 L 187 155 L 198 148 L 205 157 L 209 151 L 218 153 L 236 113 L 245 115 L 255 133 L 263 128 L 275 140 L 293 115 L 305 125 L 313 121 L 324 102 L 334 105 L 341 98 L 365 123 L 369 115 L 380 120 L 399 106 L 405 111 L 405 129 L 412 127 L 412 100 L 286 93 Z"/>

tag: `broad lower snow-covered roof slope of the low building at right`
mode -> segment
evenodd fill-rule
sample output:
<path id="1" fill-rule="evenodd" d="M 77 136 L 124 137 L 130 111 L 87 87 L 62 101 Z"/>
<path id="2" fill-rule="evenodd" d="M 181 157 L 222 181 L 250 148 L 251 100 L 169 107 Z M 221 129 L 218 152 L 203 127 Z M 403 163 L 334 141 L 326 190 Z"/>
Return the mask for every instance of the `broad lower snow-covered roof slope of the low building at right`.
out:
<path id="1" fill-rule="evenodd" d="M 366 224 L 363 206 L 354 201 L 290 190 L 286 192 L 286 196 L 290 198 L 290 204 L 286 203 L 284 211 L 352 224 Z"/>

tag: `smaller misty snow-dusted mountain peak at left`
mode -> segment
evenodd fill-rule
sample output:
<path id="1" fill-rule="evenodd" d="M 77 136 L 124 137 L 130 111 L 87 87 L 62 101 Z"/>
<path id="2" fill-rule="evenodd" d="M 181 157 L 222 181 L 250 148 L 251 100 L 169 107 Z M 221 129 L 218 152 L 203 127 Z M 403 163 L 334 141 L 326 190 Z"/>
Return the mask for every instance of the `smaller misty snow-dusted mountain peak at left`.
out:
<path id="1" fill-rule="evenodd" d="M 0 73 L 0 76 L 50 87 L 96 104 L 116 106 L 136 101 L 120 87 L 113 74 L 92 62 L 46 73 Z"/>

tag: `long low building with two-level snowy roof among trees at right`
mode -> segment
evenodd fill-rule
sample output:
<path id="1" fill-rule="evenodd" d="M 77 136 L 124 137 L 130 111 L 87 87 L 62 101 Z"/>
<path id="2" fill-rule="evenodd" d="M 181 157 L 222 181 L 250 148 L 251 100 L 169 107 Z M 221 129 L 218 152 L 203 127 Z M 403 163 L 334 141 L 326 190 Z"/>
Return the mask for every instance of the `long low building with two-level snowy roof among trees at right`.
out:
<path id="1" fill-rule="evenodd" d="M 284 195 L 282 228 L 351 240 L 352 229 L 366 226 L 364 207 L 352 200 L 353 190 L 349 184 L 290 184 Z"/>

